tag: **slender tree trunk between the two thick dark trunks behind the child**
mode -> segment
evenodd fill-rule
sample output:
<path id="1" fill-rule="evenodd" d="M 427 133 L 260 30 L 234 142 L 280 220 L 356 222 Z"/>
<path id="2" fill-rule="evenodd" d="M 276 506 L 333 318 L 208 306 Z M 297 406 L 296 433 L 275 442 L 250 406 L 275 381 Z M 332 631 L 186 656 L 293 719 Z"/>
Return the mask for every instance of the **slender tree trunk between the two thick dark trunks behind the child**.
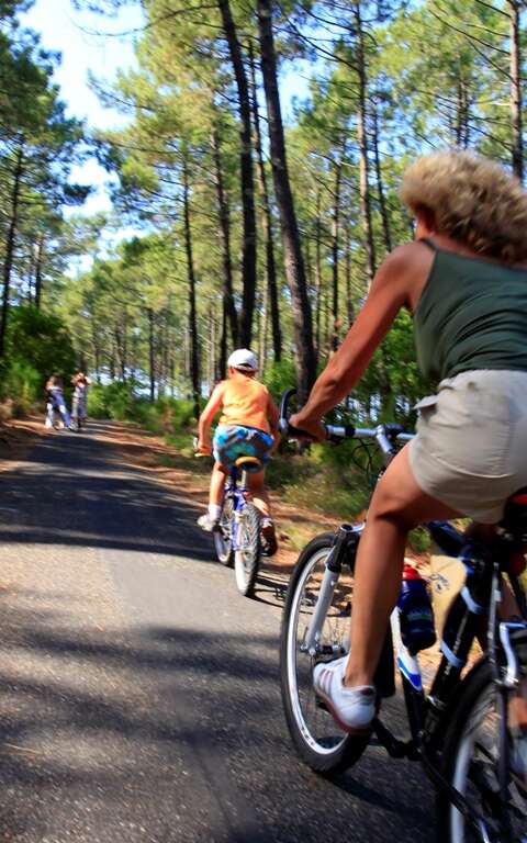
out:
<path id="1" fill-rule="evenodd" d="M 261 144 L 261 130 L 260 130 L 260 115 L 258 112 L 258 95 L 256 87 L 256 68 L 255 68 L 255 55 L 253 50 L 253 44 L 249 43 L 249 68 L 250 68 L 250 83 L 253 93 L 253 122 L 255 125 L 255 144 L 256 144 L 256 161 L 258 168 L 258 181 L 260 187 L 260 194 L 262 201 L 262 229 L 264 239 L 266 245 L 266 271 L 267 271 L 267 290 L 264 299 L 269 301 L 271 311 L 271 328 L 272 328 L 272 353 L 274 361 L 279 362 L 282 357 L 282 331 L 280 328 L 280 307 L 278 301 L 278 288 L 277 288 L 277 266 L 274 262 L 274 235 L 272 231 L 272 216 L 271 216 L 271 203 L 269 201 L 269 189 L 267 186 L 267 173 L 264 161 L 264 149 Z M 266 327 L 267 327 L 267 310 L 266 310 Z M 267 337 L 266 337 L 267 339 Z"/>

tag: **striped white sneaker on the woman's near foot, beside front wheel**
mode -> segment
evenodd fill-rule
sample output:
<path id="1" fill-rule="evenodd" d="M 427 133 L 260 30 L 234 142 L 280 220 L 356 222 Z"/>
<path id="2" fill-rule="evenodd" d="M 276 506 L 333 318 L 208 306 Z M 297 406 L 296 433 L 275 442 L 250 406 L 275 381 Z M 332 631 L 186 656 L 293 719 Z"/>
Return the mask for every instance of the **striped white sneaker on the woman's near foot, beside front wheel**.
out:
<path id="1" fill-rule="evenodd" d="M 372 685 L 348 688 L 343 685 L 348 656 L 319 662 L 313 671 L 313 686 L 334 719 L 346 732 L 362 732 L 375 716 L 375 689 Z"/>

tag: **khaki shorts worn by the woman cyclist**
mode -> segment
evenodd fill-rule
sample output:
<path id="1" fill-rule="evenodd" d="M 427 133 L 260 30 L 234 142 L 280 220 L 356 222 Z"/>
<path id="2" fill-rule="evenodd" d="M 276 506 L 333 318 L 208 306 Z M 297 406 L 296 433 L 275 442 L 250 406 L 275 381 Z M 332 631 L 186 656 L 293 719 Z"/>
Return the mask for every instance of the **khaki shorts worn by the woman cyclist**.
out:
<path id="1" fill-rule="evenodd" d="M 483 524 L 527 485 L 527 372 L 462 372 L 416 405 L 415 480 L 431 497 Z"/>

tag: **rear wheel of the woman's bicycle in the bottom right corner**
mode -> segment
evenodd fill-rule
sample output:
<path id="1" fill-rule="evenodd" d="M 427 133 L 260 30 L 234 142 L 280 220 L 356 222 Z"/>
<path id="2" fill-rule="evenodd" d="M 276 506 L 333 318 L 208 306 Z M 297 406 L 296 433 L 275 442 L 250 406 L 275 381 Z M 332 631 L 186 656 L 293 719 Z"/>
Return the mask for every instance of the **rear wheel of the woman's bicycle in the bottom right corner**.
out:
<path id="1" fill-rule="evenodd" d="M 524 676 L 527 675 L 527 645 L 518 652 Z M 525 843 L 527 841 L 527 777 L 518 766 L 519 735 L 511 721 L 507 728 L 509 769 L 507 797 L 500 794 L 502 710 L 500 690 L 491 664 L 482 660 L 467 676 L 457 700 L 456 712 L 446 739 L 444 762 L 447 780 L 461 793 L 470 808 L 498 827 L 489 839 Z M 507 709 L 511 712 L 513 694 Z M 523 739 L 525 740 L 525 738 Z M 524 756 L 525 763 L 525 756 Z M 437 806 L 438 841 L 478 843 L 483 836 L 440 794 Z"/>

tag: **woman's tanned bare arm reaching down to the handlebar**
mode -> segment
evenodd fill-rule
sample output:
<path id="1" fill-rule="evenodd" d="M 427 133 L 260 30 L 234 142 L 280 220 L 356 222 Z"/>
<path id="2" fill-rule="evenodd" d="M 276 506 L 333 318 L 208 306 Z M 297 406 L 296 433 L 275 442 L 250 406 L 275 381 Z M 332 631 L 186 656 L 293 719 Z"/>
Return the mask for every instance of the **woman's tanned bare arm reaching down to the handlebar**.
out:
<path id="1" fill-rule="evenodd" d="M 317 439 L 324 438 L 321 418 L 360 380 L 399 311 L 408 303 L 411 249 L 412 255 L 415 255 L 415 244 L 401 246 L 379 268 L 366 304 L 343 345 L 319 375 L 305 406 L 291 417 L 291 424 L 295 427 L 313 434 Z"/>

